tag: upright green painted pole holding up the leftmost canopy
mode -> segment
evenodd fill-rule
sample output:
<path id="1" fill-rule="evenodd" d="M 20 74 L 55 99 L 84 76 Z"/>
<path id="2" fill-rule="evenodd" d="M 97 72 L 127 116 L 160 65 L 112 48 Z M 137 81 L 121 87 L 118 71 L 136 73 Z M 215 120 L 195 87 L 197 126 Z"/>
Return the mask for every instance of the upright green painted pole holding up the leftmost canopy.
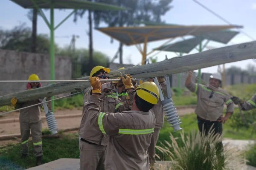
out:
<path id="1" fill-rule="evenodd" d="M 54 4 L 50 5 L 50 68 L 51 80 L 55 80 L 55 56 L 54 56 Z M 52 82 L 54 83 L 54 82 Z M 54 99 L 54 96 L 52 96 Z M 52 112 L 54 113 L 54 101 L 52 101 Z"/>

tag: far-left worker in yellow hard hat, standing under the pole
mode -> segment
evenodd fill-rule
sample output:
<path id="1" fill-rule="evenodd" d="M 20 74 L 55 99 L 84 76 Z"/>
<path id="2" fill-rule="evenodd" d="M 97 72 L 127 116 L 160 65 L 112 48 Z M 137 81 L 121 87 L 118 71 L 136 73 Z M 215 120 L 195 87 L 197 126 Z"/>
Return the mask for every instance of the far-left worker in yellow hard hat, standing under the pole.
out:
<path id="1" fill-rule="evenodd" d="M 39 82 L 39 77 L 36 74 L 31 74 L 29 76 L 29 81 L 38 81 L 38 82 L 29 82 L 26 86 L 27 90 L 33 90 L 36 88 L 42 87 Z M 11 100 L 11 104 L 15 108 L 24 108 L 27 106 L 35 105 L 41 103 L 42 99 L 35 99 L 28 102 L 19 103 L 16 98 Z M 30 130 L 32 134 L 32 142 L 34 145 L 36 165 L 42 164 L 43 156 L 43 146 L 42 146 L 42 122 L 41 122 L 41 111 L 39 105 L 33 106 L 30 108 L 20 110 L 20 133 L 21 133 L 21 158 L 26 158 L 29 152 L 29 135 Z"/>

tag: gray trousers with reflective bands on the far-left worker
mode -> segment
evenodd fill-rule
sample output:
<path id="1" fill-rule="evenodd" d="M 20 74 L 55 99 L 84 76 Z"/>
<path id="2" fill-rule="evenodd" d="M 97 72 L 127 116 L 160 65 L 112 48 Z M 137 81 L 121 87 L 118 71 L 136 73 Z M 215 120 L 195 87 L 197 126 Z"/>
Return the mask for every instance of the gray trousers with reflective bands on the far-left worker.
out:
<path id="1" fill-rule="evenodd" d="M 42 145 L 42 122 L 41 120 L 36 123 L 28 123 L 20 121 L 20 134 L 21 134 L 21 153 L 29 153 L 29 135 L 30 130 L 32 134 L 32 142 L 34 145 L 35 156 L 43 155 Z"/>

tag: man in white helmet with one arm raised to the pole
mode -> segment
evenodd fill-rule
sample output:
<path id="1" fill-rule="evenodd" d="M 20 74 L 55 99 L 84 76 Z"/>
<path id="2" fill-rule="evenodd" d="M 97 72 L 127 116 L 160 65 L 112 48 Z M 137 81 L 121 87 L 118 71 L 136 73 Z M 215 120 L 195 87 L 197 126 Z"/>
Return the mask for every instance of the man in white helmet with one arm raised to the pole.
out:
<path id="1" fill-rule="evenodd" d="M 209 78 L 209 85 L 201 85 L 192 82 L 192 74 L 193 72 L 189 71 L 185 85 L 189 91 L 194 92 L 198 96 L 195 113 L 197 114 L 199 131 L 203 132 L 204 130 L 205 135 L 207 135 L 213 126 L 213 133 L 221 135 L 223 123 L 230 118 L 234 111 L 234 103 L 230 99 L 230 95 L 219 88 L 221 85 L 221 75 L 217 73 L 212 74 Z M 225 116 L 222 115 L 224 104 L 227 105 Z M 219 162 L 223 165 L 222 142 L 218 142 L 216 145 L 216 153 Z"/>

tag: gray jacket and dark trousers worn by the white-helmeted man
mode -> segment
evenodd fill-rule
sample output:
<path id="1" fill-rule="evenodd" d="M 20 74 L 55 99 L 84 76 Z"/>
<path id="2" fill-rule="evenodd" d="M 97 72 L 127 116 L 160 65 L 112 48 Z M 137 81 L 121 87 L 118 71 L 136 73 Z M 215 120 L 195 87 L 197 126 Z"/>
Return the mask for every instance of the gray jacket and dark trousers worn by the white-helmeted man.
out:
<path id="1" fill-rule="evenodd" d="M 217 120 L 222 118 L 224 104 L 227 105 L 227 113 L 233 113 L 235 107 L 230 96 L 223 89 L 212 91 L 207 86 L 195 84 L 194 82 L 191 82 L 186 87 L 198 96 L 195 113 L 198 115 L 199 131 L 204 133 L 204 135 L 208 135 L 209 130 L 213 130 L 213 135 L 221 135 L 223 129 L 222 123 Z M 224 166 L 222 142 L 216 142 L 215 150 L 220 166 Z"/>

